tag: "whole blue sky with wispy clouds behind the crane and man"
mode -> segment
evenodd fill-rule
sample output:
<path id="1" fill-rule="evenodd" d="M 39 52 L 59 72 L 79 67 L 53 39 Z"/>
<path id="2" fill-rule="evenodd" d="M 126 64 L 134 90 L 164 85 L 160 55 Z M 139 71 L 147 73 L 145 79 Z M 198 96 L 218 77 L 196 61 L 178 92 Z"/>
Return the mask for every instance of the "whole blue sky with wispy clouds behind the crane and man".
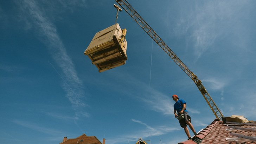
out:
<path id="1" fill-rule="evenodd" d="M 256 120 L 256 2 L 130 0 L 198 76 L 225 117 Z M 215 116 L 194 82 L 122 11 L 125 65 L 99 73 L 83 53 L 115 24 L 114 0 L 0 1 L 0 141 L 56 144 L 83 133 L 106 144 L 187 140 L 171 96 L 196 131 Z M 190 130 L 192 135 L 192 131 Z"/>

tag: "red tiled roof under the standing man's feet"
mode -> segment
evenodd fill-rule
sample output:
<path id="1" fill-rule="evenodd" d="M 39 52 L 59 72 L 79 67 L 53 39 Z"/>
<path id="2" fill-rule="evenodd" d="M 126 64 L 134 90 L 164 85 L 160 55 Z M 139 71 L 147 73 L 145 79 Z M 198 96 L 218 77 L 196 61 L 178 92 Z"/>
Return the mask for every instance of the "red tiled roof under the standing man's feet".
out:
<path id="1" fill-rule="evenodd" d="M 223 121 L 219 121 L 215 119 L 210 125 L 208 125 L 205 129 L 198 133 L 197 136 L 193 137 L 192 140 L 186 140 L 185 142 L 181 142 L 179 144 L 237 144 L 237 141 L 241 144 L 256 144 L 256 126 L 252 123 L 251 125 L 240 124 L 224 124 Z M 255 123 L 254 123 L 255 124 Z M 241 129 L 230 129 L 231 127 L 242 127 L 246 128 L 245 130 Z M 249 129 L 251 130 L 249 130 Z M 254 129 L 255 128 L 255 129 Z M 237 136 L 233 136 L 234 133 Z M 249 138 L 238 138 L 241 136 L 248 136 Z M 255 137 L 255 138 L 253 138 Z M 226 139 L 228 138 L 228 139 Z M 230 140 L 230 141 L 229 141 Z"/>

